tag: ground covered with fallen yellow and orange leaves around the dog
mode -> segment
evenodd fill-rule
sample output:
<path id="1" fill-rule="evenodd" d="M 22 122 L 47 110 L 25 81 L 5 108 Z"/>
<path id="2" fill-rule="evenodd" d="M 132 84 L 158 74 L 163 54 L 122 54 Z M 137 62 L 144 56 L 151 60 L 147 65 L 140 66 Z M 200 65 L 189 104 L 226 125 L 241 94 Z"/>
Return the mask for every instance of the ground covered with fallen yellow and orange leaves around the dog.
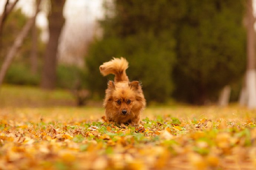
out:
<path id="1" fill-rule="evenodd" d="M 147 108 L 138 126 L 102 108 L 3 108 L 0 169 L 256 169 L 256 110 Z"/>

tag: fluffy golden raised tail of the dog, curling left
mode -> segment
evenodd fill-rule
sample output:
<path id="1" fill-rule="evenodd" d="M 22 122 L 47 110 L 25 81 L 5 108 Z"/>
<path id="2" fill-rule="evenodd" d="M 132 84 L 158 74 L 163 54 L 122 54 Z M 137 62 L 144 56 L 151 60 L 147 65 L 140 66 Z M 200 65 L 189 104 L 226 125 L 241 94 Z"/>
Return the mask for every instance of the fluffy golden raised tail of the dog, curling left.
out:
<path id="1" fill-rule="evenodd" d="M 115 82 L 120 81 L 129 81 L 128 76 L 126 75 L 125 70 L 128 68 L 128 61 L 121 57 L 121 58 L 113 58 L 108 62 L 104 62 L 100 67 L 99 70 L 101 74 L 106 76 L 108 74 L 115 75 Z"/>

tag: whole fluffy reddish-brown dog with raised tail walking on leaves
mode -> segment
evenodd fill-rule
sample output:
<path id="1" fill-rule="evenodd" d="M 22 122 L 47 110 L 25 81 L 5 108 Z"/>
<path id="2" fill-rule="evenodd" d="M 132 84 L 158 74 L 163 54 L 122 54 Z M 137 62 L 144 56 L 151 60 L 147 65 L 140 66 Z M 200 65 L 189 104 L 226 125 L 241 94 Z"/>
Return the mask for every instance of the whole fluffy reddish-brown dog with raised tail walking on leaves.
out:
<path id="1" fill-rule="evenodd" d="M 122 57 L 113 58 L 99 67 L 102 75 L 115 75 L 114 82 L 108 82 L 103 105 L 108 120 L 136 125 L 140 123 L 140 114 L 145 108 L 146 101 L 140 83 L 129 82 L 125 72 L 127 68 L 128 62 Z"/>

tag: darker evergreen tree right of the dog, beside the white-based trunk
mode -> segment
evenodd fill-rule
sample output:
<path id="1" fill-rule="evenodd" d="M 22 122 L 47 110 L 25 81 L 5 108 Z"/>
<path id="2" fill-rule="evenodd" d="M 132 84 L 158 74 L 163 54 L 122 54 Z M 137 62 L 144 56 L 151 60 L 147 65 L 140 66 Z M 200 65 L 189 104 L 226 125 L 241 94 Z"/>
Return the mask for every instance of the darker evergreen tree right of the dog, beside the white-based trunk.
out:
<path id="1" fill-rule="evenodd" d="M 175 96 L 204 104 L 245 69 L 243 1 L 187 0 L 177 29 Z"/>

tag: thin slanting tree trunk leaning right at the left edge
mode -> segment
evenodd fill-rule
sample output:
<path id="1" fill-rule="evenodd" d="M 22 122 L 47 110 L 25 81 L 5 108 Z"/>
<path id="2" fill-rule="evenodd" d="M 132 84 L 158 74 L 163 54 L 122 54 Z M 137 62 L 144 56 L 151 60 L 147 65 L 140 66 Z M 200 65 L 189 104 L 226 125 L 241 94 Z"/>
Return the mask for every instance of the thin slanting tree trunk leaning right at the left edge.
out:
<path id="1" fill-rule="evenodd" d="M 10 48 L 10 50 L 8 51 L 8 53 L 6 55 L 6 58 L 4 59 L 3 65 L 1 66 L 1 69 L 0 69 L 0 86 L 3 84 L 4 76 L 6 75 L 6 71 L 9 68 L 15 54 L 17 53 L 19 48 L 22 46 L 22 43 L 23 43 L 24 39 L 26 38 L 27 34 L 29 33 L 29 30 L 35 23 L 37 13 L 39 12 L 40 1 L 41 0 L 39 0 L 37 3 L 35 16 L 30 18 L 27 21 L 25 26 L 22 28 L 22 31 L 20 31 L 19 35 L 17 35 L 12 47 Z"/>

